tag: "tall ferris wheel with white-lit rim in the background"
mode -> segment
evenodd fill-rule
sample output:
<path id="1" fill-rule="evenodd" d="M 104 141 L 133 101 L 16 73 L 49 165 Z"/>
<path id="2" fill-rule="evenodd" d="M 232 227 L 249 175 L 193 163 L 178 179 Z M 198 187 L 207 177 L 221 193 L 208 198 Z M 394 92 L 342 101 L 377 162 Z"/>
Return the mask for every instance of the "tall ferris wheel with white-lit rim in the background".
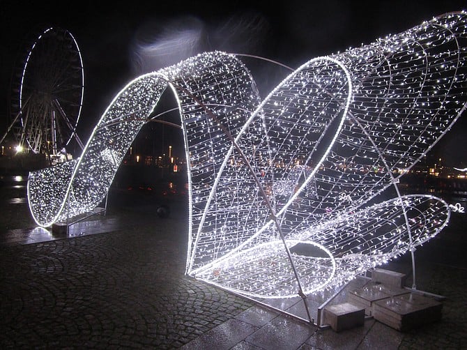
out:
<path id="1" fill-rule="evenodd" d="M 70 31 L 49 28 L 34 38 L 12 84 L 13 122 L 7 133 L 12 130 L 20 146 L 57 155 L 75 139 L 84 148 L 76 133 L 84 69 Z"/>

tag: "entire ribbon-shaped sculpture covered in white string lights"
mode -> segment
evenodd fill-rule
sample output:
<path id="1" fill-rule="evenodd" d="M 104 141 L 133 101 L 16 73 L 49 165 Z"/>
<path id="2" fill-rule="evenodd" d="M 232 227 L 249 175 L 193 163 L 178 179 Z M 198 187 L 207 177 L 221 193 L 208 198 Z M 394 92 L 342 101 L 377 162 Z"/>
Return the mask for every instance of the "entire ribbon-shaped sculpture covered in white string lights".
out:
<path id="1" fill-rule="evenodd" d="M 401 195 L 399 169 L 466 108 L 466 22 L 450 13 L 312 59 L 263 100 L 234 54 L 138 77 L 78 160 L 31 172 L 33 218 L 48 226 L 95 208 L 169 87 L 189 160 L 188 275 L 252 297 L 304 298 L 413 254 L 450 208 Z"/>

